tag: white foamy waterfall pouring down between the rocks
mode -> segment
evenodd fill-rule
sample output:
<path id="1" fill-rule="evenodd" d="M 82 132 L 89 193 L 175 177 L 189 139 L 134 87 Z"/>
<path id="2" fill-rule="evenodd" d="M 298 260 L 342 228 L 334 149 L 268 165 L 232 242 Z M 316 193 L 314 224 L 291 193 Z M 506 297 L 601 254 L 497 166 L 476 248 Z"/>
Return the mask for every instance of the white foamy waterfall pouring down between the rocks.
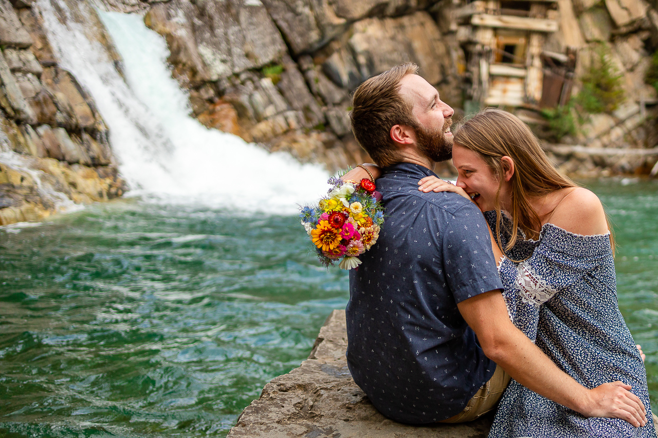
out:
<path id="1" fill-rule="evenodd" d="M 99 12 L 123 58 L 124 81 L 102 45 L 89 41 L 82 24 L 59 20 L 52 3 L 68 11 L 61 0 L 38 0 L 49 41 L 109 126 L 120 173 L 133 194 L 290 214 L 326 193 L 329 175 L 321 166 L 267 153 L 191 118 L 188 97 L 166 64 L 166 42 L 141 16 Z"/>

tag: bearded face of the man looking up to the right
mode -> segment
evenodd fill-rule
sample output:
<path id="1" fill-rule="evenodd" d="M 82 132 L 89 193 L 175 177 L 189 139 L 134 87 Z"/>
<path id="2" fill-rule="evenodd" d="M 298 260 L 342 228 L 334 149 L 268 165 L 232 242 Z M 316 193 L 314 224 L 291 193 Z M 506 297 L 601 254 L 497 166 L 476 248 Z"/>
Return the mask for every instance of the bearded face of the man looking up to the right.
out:
<path id="1" fill-rule="evenodd" d="M 400 94 L 411 103 L 411 115 L 418 124 L 415 127 L 418 152 L 432 161 L 449 159 L 453 109 L 439 98 L 436 88 L 417 74 L 402 78 Z"/>

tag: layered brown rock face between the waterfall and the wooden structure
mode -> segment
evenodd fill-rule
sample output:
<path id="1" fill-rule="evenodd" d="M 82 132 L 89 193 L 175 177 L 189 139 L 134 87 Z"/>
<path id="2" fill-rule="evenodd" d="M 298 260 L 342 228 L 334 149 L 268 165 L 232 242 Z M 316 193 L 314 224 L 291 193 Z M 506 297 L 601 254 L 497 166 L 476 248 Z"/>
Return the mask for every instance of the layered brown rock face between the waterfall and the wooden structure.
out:
<path id="1" fill-rule="evenodd" d="M 147 26 L 166 37 L 199 121 L 336 170 L 367 159 L 348 111 L 349 93 L 368 77 L 414 61 L 459 98 L 452 43 L 427 11 L 434 3 L 170 0 L 142 8 Z"/>

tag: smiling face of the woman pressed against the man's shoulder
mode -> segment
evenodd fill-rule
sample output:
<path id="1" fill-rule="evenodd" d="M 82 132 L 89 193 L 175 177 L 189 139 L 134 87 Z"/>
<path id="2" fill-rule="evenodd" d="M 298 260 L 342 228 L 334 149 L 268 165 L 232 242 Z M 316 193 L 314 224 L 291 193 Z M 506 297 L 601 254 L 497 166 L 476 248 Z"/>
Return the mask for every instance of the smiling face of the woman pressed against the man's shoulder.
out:
<path id="1" fill-rule="evenodd" d="M 457 186 L 464 189 L 482 211 L 495 208 L 498 179 L 480 155 L 457 143 L 453 145 L 453 164 L 457 168 Z M 504 187 L 505 185 L 503 185 Z M 504 205 L 503 193 L 501 203 Z"/>

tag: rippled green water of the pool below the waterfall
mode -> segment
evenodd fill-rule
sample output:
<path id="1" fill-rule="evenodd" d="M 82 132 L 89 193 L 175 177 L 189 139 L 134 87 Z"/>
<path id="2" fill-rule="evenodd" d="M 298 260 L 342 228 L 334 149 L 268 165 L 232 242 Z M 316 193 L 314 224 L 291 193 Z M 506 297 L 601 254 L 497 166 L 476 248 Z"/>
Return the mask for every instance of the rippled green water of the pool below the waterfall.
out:
<path id="1" fill-rule="evenodd" d="M 658 184 L 595 182 L 658 404 Z M 294 217 L 124 200 L 0 229 L 0 437 L 222 437 L 299 365 L 347 276 Z"/>

